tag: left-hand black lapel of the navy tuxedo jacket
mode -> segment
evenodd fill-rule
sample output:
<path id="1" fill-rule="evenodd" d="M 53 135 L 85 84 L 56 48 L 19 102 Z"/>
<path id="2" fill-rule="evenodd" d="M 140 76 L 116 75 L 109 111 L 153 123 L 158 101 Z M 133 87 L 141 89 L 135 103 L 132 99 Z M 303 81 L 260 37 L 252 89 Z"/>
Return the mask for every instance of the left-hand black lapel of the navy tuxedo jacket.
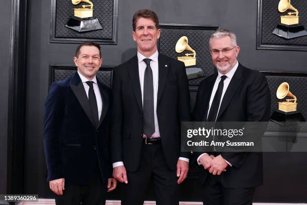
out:
<path id="1" fill-rule="evenodd" d="M 86 113 L 88 119 L 91 121 L 91 123 L 95 126 L 95 122 L 92 119 L 92 113 L 89 106 L 88 98 L 86 96 L 86 92 L 83 86 L 83 83 L 80 79 L 80 76 L 78 72 L 75 72 L 75 74 L 72 77 L 71 83 L 69 84 L 70 88 L 76 95 L 81 107 L 83 108 L 84 112 Z"/>

